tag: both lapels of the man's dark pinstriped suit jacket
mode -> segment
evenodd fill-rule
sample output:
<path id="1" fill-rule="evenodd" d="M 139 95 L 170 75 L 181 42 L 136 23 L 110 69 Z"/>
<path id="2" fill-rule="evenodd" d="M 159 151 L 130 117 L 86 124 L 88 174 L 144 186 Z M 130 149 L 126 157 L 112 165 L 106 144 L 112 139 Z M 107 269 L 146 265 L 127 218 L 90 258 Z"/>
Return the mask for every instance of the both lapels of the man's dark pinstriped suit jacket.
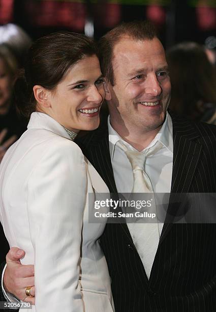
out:
<path id="1" fill-rule="evenodd" d="M 192 179 L 199 162 L 202 146 L 196 142 L 199 134 L 196 128 L 189 122 L 175 118 L 171 115 L 173 122 L 173 171 L 171 193 L 187 193 L 190 191 Z M 83 145 L 84 143 L 84 145 Z M 100 176 L 107 184 L 111 193 L 117 193 L 112 164 L 109 151 L 109 135 L 107 126 L 98 128 L 91 135 L 86 136 L 79 142 L 83 153 L 90 160 L 91 164 L 97 169 Z M 166 238 L 172 227 L 172 204 L 168 206 L 168 214 L 163 226 L 159 247 Z M 173 216 L 174 217 L 174 216 Z M 132 246 L 133 240 L 126 223 L 119 224 L 126 237 L 130 240 Z M 134 246 L 135 250 L 136 247 Z M 158 252 L 157 252 L 158 253 Z M 156 254 L 157 258 L 157 254 Z M 155 263 L 155 262 L 154 262 Z M 154 264 L 153 264 L 154 266 Z M 153 267 L 152 267 L 153 271 Z M 150 275 L 149 282 L 152 280 Z M 148 279 L 146 277 L 146 284 Z"/>

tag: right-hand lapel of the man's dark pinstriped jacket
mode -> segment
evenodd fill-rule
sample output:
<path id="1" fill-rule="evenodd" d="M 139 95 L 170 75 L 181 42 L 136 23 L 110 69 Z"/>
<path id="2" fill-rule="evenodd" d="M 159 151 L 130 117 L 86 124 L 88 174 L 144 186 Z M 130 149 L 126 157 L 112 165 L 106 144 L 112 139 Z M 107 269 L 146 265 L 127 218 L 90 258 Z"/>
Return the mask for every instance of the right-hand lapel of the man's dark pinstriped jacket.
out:
<path id="1" fill-rule="evenodd" d="M 170 196 L 173 193 L 190 192 L 193 176 L 202 151 L 202 145 L 196 140 L 200 136 L 191 123 L 175 117 L 172 117 L 172 122 L 173 170 Z M 174 217 L 175 213 L 173 213 L 172 203 L 169 203 L 159 246 L 172 228 Z"/>

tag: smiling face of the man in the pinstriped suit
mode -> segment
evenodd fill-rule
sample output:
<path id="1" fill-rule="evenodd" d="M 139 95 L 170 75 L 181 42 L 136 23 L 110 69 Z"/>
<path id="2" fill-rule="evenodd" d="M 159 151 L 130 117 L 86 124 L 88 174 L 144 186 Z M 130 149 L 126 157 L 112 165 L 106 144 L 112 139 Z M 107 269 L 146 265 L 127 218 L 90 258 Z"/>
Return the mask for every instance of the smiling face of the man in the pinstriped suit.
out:
<path id="1" fill-rule="evenodd" d="M 159 39 L 122 38 L 113 49 L 114 86 L 110 87 L 110 120 L 128 130 L 161 126 L 170 100 L 170 78 Z"/>

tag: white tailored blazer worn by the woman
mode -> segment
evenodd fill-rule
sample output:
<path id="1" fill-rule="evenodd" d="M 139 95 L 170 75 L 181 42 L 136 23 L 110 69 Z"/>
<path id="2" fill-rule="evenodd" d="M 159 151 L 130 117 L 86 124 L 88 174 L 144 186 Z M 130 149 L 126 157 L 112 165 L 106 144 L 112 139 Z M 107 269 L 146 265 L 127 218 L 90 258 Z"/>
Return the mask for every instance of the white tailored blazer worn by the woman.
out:
<path id="1" fill-rule="evenodd" d="M 98 242 L 105 223 L 88 223 L 97 193 L 109 190 L 59 123 L 31 115 L 1 163 L 0 189 L 10 247 L 25 250 L 22 264 L 35 265 L 36 306 L 29 312 L 114 311 Z"/>

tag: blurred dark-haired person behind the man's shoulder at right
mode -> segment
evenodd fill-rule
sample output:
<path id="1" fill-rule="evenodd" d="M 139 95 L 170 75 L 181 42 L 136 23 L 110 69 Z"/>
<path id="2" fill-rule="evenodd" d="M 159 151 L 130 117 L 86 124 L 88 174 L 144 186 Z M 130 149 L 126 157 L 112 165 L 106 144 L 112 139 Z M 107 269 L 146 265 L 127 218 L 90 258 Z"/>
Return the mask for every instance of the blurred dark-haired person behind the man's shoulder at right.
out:
<path id="1" fill-rule="evenodd" d="M 167 51 L 172 96 L 170 109 L 191 120 L 216 124 L 216 74 L 205 48 L 182 42 Z"/>

